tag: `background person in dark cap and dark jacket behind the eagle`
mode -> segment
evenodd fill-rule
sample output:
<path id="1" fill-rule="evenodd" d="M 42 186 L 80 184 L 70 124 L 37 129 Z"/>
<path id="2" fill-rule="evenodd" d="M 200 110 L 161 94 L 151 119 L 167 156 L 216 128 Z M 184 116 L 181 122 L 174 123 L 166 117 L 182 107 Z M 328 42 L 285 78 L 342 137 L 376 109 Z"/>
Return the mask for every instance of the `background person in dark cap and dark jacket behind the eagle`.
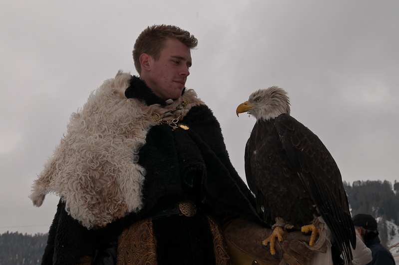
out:
<path id="1" fill-rule="evenodd" d="M 362 239 L 365 245 L 372 251 L 373 260 L 368 265 L 395 265 L 394 257 L 386 247 L 381 245 L 377 221 L 373 216 L 358 214 L 353 218 L 356 234 Z"/>

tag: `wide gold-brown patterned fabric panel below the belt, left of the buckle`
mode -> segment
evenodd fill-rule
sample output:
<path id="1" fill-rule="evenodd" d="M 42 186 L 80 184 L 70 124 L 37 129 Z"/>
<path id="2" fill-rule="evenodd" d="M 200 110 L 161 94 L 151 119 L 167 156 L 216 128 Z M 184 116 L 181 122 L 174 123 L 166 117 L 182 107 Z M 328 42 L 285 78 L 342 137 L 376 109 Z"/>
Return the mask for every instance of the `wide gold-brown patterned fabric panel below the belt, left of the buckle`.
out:
<path id="1" fill-rule="evenodd" d="M 118 237 L 116 265 L 157 265 L 152 219 L 134 223 Z"/>

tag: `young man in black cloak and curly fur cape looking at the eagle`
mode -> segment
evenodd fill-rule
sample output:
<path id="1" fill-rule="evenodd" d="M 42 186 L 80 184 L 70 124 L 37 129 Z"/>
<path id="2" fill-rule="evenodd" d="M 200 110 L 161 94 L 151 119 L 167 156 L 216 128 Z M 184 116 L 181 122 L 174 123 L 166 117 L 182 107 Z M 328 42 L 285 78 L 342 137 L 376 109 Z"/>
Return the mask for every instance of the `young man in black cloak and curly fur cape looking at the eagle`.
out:
<path id="1" fill-rule="evenodd" d="M 72 114 L 30 196 L 61 197 L 42 264 L 229 265 L 221 225 L 262 224 L 218 121 L 185 88 L 196 45 L 179 27 L 146 28 L 140 77 L 118 72 Z"/>

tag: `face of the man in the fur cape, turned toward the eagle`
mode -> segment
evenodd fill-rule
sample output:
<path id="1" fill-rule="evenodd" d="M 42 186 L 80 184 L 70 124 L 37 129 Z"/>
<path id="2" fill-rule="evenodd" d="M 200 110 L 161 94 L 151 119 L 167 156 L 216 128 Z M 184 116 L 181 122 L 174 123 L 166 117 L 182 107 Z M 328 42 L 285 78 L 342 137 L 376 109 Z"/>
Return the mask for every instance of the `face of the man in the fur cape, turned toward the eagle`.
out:
<path id="1" fill-rule="evenodd" d="M 143 78 L 149 88 L 160 98 L 179 98 L 190 74 L 190 48 L 177 39 L 165 41 L 158 60 L 149 56 L 150 70 Z"/>

